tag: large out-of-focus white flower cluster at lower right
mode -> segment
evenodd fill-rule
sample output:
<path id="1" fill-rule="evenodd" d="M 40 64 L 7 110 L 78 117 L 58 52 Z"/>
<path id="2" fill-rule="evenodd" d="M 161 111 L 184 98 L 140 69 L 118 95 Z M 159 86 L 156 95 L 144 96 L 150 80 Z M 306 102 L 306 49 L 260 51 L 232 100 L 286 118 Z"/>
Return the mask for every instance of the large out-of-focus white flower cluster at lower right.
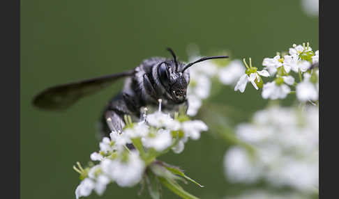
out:
<path id="1" fill-rule="evenodd" d="M 317 106 L 271 106 L 257 111 L 253 122 L 236 127 L 236 138 L 248 148 L 225 153 L 225 175 L 232 182 L 266 180 L 302 193 L 318 188 L 319 109 Z M 251 150 L 249 150 L 251 149 Z"/>

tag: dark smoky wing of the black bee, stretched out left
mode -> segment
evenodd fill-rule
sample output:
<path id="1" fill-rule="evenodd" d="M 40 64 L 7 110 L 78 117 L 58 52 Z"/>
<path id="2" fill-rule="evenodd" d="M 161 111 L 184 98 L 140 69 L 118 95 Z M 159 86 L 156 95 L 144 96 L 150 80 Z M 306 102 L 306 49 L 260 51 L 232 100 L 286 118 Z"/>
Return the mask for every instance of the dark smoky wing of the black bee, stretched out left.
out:
<path id="1" fill-rule="evenodd" d="M 49 110 L 67 109 L 77 102 L 77 100 L 80 100 L 80 98 L 96 93 L 98 90 L 105 88 L 117 79 L 130 77 L 134 73 L 135 70 L 130 70 L 103 77 L 52 86 L 36 95 L 33 99 L 33 105 L 41 109 Z"/>

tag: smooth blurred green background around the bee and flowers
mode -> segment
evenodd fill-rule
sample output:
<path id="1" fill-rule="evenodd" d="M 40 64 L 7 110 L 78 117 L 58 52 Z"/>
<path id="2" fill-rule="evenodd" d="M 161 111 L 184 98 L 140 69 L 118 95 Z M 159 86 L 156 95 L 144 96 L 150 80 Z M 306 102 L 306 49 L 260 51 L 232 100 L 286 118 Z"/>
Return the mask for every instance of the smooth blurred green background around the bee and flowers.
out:
<path id="1" fill-rule="evenodd" d="M 229 49 L 232 58 L 264 57 L 287 50 L 293 43 L 310 42 L 318 49 L 318 18 L 308 17 L 301 2 L 289 1 L 21 1 L 21 196 L 75 198 L 80 180 L 72 166 L 84 164 L 98 150 L 95 124 L 105 102 L 123 81 L 80 100 L 63 112 L 40 111 L 32 97 L 47 86 L 122 72 L 144 58 L 169 56 L 172 47 L 187 61 L 187 46 L 201 54 Z M 245 121 L 266 105 L 248 86 L 246 93 L 225 87 L 211 99 L 233 110 L 233 122 Z M 255 104 L 255 105 L 254 105 Z M 181 154 L 160 159 L 181 166 L 205 185 L 183 188 L 200 198 L 223 198 L 239 186 L 223 173 L 227 143 L 213 134 L 189 141 Z M 103 198 L 149 198 L 140 186 L 110 184 Z M 178 198 L 163 188 L 163 198 Z M 92 193 L 89 198 L 100 198 Z"/>

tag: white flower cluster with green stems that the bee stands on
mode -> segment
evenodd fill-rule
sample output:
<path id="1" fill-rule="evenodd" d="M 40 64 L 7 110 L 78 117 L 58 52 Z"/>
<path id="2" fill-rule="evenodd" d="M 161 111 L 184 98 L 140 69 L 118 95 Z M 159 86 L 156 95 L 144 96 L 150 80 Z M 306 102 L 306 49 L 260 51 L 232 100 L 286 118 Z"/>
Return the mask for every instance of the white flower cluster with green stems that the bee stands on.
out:
<path id="1" fill-rule="evenodd" d="M 195 182 L 179 168 L 156 158 L 171 149 L 182 152 L 188 139 L 197 140 L 200 132 L 208 129 L 204 122 L 178 113 L 172 118 L 161 111 L 161 100 L 155 113 L 146 114 L 145 110 L 140 122 L 132 122 L 130 116 L 125 117 L 125 122 L 123 132 L 112 132 L 110 138 L 104 137 L 99 144 L 100 151 L 91 154 L 91 160 L 97 164 L 91 162 L 89 167 L 82 168 L 78 163 L 78 168 L 74 167 L 82 179 L 75 191 L 76 198 L 89 196 L 93 190 L 102 195 L 110 182 L 134 186 L 143 180 L 148 168 L 163 180 L 173 181 L 179 175 Z"/>

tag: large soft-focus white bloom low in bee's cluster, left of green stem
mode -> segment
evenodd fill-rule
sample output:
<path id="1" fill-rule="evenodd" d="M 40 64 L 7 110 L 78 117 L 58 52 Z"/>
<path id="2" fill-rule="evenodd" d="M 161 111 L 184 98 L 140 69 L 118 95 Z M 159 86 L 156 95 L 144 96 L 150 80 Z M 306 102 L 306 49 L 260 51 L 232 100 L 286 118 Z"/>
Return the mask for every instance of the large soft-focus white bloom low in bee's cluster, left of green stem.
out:
<path id="1" fill-rule="evenodd" d="M 142 179 L 145 165 L 139 154 L 131 151 L 127 160 L 105 159 L 101 161 L 101 168 L 119 186 L 134 186 Z"/>

